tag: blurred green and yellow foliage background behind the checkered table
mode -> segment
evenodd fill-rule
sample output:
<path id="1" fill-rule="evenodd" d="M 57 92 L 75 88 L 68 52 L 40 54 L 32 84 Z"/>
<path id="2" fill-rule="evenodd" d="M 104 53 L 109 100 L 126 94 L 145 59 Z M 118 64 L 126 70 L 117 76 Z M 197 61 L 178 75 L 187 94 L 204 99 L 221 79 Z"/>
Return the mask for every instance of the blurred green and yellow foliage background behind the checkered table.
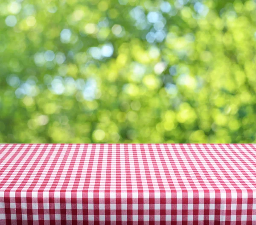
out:
<path id="1" fill-rule="evenodd" d="M 2 0 L 0 142 L 256 142 L 256 1 Z"/>

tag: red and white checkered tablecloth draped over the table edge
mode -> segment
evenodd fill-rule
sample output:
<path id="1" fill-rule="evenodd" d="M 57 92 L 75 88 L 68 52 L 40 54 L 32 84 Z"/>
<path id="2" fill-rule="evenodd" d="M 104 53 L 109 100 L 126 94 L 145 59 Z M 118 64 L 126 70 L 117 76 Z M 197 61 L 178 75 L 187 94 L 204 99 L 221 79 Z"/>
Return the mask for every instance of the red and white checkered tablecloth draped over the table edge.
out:
<path id="1" fill-rule="evenodd" d="M 256 144 L 0 144 L 0 225 L 256 224 Z"/>

